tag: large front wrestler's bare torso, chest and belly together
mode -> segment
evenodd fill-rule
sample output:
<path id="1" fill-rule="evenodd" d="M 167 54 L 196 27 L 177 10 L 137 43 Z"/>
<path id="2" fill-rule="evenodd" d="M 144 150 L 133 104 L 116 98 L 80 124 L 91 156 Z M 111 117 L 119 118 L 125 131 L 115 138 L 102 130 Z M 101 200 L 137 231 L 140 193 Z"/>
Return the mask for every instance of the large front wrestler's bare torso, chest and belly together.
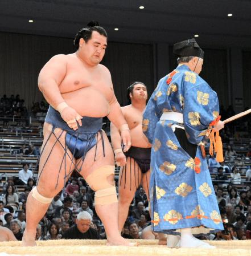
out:
<path id="1" fill-rule="evenodd" d="M 104 66 L 87 68 L 78 59 L 73 60 L 67 63 L 66 74 L 59 85 L 61 96 L 82 116 L 106 116 L 113 97 L 109 72 Z"/>

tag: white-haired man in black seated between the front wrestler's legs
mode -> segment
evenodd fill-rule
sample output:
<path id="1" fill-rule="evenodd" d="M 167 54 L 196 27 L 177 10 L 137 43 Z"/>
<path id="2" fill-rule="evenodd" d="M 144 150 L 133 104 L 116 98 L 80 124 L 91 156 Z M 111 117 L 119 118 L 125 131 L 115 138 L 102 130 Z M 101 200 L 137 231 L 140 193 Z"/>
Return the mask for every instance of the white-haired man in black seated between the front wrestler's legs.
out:
<path id="1" fill-rule="evenodd" d="M 97 230 L 90 227 L 92 216 L 86 211 L 77 214 L 76 225 L 65 231 L 64 239 L 100 239 Z"/>

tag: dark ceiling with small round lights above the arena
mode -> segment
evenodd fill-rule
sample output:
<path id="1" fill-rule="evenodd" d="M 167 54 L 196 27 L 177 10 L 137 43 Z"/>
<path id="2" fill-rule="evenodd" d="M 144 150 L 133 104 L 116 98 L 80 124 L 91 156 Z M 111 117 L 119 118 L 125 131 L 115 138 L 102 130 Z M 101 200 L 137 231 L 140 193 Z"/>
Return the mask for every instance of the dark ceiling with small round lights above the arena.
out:
<path id="1" fill-rule="evenodd" d="M 251 0 L 0 0 L 0 31 L 73 38 L 91 20 L 112 41 L 173 44 L 199 34 L 203 46 L 251 48 Z"/>

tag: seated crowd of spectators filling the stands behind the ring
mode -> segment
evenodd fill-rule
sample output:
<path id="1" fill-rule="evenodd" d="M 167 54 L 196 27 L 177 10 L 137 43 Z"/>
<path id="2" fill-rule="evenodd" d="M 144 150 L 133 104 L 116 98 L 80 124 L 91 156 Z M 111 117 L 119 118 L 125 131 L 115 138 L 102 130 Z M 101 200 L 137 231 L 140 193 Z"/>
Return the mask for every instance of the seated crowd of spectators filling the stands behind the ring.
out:
<path id="1" fill-rule="evenodd" d="M 11 97 L 10 99 L 13 100 L 11 102 L 18 102 L 17 96 Z M 6 96 L 2 97 L 1 104 L 3 102 L 9 104 L 10 99 Z M 45 112 L 46 106 L 34 104 L 32 112 L 39 111 Z M 208 166 L 225 229 L 215 235 L 201 238 L 251 239 L 251 144 L 249 144 L 249 151 L 240 154 L 236 153 L 232 144 L 229 143 L 228 132 L 223 132 L 222 137 L 225 145 L 225 161 L 219 163 L 214 156 L 208 157 Z M 39 156 L 39 150 L 32 144 L 28 146 L 24 144 L 20 147 L 18 154 Z M 250 162 L 250 165 L 247 162 Z M 23 169 L 19 170 L 18 177 L 8 177 L 0 186 L 2 190 L 0 192 L 0 230 L 3 227 L 7 228 L 18 240 L 22 239 L 26 226 L 27 197 L 36 185 L 34 173 L 29 166 L 28 163 L 23 163 Z M 19 186 L 24 186 L 23 192 L 18 191 Z M 141 187 L 131 202 L 122 236 L 131 239 L 158 238 L 158 234 L 151 232 L 150 226 L 149 206 L 146 194 Z M 77 172 L 73 173 L 64 189 L 54 197 L 36 230 L 36 240 L 62 238 L 106 238 L 104 226 L 95 211 L 94 192 Z"/>

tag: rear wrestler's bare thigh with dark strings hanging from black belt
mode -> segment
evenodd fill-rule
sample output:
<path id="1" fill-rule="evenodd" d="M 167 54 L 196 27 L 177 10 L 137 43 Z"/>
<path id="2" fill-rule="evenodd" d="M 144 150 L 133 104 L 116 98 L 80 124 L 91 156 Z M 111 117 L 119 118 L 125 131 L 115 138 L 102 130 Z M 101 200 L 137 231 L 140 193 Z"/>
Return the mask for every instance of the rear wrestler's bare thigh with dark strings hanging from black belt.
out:
<path id="1" fill-rule="evenodd" d="M 120 169 L 119 190 L 133 190 L 138 189 L 141 184 L 142 173 L 137 162 L 132 157 L 126 158 L 126 165 Z"/>

